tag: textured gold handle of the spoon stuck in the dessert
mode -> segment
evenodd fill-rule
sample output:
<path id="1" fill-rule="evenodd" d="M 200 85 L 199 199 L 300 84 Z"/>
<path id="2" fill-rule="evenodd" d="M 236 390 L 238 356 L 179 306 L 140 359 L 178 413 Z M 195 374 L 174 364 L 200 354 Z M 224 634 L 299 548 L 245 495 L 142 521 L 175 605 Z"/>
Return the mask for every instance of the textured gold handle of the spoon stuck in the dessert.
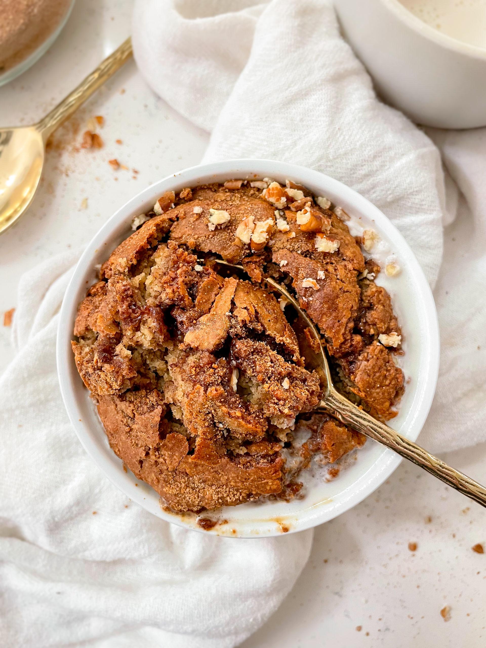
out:
<path id="1" fill-rule="evenodd" d="M 421 448 L 421 446 L 389 428 L 388 425 L 376 421 L 376 419 L 373 419 L 365 411 L 360 410 L 360 408 L 342 397 L 334 389 L 331 389 L 329 395 L 321 402 L 319 409 L 321 408 L 349 425 L 353 430 L 362 432 L 362 434 L 370 439 L 378 441 L 378 443 L 390 448 L 400 456 L 430 472 L 437 479 L 445 481 L 447 485 L 456 489 L 456 491 L 463 493 L 471 500 L 475 500 L 486 507 L 485 487 L 462 472 L 454 470 L 454 468 L 448 466 L 441 459 L 437 459 L 437 457 L 434 457 L 434 455 Z"/>

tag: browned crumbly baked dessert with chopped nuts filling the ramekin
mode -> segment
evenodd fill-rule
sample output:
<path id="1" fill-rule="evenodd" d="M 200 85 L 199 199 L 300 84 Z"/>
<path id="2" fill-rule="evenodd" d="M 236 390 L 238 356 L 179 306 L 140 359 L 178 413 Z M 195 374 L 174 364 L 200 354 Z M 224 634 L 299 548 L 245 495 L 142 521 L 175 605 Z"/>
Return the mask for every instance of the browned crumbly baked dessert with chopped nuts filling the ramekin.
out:
<path id="1" fill-rule="evenodd" d="M 318 325 L 341 391 L 384 420 L 402 393 L 397 318 L 345 214 L 292 182 L 251 184 L 166 192 L 137 216 L 145 224 L 111 253 L 76 318 L 76 366 L 111 447 L 174 511 L 295 494 L 283 449 L 293 451 L 303 419 L 301 467 L 364 443 L 303 414 L 319 401 L 319 378 L 266 276 Z M 249 280 L 215 255 L 242 263 Z"/>

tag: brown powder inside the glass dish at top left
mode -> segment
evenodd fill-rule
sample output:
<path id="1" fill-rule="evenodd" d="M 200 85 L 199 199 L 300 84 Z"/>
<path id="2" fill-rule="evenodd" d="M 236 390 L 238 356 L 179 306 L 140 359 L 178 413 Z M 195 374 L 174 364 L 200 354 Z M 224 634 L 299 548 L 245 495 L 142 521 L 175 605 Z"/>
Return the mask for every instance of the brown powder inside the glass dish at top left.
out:
<path id="1" fill-rule="evenodd" d="M 19 64 L 51 36 L 70 0 L 3 0 L 0 17 L 0 71 Z"/>

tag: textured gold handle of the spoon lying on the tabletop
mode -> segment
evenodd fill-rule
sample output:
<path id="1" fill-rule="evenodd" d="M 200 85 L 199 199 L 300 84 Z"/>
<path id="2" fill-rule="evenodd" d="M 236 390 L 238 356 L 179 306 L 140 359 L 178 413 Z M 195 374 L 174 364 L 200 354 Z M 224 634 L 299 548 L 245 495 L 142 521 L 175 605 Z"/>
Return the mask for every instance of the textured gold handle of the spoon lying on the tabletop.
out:
<path id="1" fill-rule="evenodd" d="M 51 112 L 45 115 L 38 124 L 44 141 L 68 117 L 78 110 L 88 97 L 91 97 L 98 87 L 110 78 L 132 56 L 132 39 L 127 38 L 113 54 L 110 54 L 98 67 L 82 81 L 67 97 L 65 97 Z"/>

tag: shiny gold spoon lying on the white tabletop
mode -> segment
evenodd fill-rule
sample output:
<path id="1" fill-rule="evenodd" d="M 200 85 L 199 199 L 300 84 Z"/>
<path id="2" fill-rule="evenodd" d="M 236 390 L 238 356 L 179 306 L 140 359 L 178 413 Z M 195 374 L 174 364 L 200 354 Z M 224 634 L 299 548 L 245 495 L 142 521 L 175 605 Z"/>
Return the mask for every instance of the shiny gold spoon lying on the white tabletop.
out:
<path id="1" fill-rule="evenodd" d="M 51 133 L 132 56 L 127 38 L 76 89 L 32 126 L 0 128 L 0 234 L 29 207 L 39 185 L 44 147 Z"/>

